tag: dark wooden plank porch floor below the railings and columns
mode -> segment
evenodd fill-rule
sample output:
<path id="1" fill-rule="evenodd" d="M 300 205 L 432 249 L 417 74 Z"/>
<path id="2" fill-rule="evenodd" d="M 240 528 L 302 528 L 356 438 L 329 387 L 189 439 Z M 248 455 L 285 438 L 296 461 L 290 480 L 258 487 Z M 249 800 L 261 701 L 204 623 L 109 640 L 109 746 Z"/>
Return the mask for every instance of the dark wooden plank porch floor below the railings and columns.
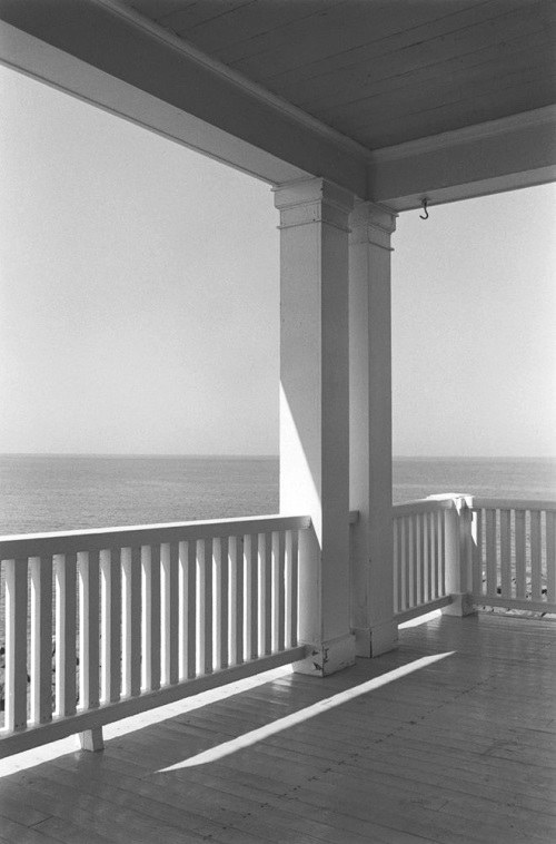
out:
<path id="1" fill-rule="evenodd" d="M 102 753 L 0 779 L 0 842 L 554 844 L 555 637 L 441 617 L 326 680 L 177 705 Z"/>

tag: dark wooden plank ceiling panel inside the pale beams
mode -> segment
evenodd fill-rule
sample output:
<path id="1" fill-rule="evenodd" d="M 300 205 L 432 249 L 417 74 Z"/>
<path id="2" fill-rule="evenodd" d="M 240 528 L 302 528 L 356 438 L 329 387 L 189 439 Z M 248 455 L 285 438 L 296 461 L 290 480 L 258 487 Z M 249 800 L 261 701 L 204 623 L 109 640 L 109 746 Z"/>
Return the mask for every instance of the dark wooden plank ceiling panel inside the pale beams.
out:
<path id="1" fill-rule="evenodd" d="M 369 150 L 556 101 L 552 0 L 126 0 Z"/>

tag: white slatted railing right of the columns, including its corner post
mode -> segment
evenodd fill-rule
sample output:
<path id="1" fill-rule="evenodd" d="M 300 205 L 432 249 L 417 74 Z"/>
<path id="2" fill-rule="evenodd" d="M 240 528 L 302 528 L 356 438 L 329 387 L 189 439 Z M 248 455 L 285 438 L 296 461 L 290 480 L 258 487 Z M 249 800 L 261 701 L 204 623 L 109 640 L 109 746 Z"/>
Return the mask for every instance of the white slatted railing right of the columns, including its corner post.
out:
<path id="1" fill-rule="evenodd" d="M 556 612 L 556 502 L 456 495 L 397 504 L 395 617 L 455 602 L 461 612 Z"/>

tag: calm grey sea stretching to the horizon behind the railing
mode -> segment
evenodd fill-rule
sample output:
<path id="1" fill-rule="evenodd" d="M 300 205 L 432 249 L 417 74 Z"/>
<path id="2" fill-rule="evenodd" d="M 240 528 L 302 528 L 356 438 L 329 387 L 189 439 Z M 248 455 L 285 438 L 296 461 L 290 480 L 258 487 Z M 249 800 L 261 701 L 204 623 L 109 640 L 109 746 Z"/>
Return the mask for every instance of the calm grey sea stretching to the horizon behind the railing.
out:
<path id="1" fill-rule="evenodd" d="M 398 458 L 394 501 L 556 498 L 556 459 Z M 0 457 L 0 536 L 275 513 L 278 460 Z"/>

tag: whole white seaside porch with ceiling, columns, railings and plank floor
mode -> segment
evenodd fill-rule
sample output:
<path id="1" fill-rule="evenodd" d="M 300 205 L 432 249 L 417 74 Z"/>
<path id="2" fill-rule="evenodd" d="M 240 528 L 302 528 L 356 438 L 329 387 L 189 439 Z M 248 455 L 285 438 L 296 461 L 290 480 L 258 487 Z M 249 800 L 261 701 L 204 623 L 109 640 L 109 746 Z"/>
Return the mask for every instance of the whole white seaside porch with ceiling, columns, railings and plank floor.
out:
<path id="1" fill-rule="evenodd" d="M 555 506 L 457 497 L 393 520 L 390 254 L 400 212 L 554 179 L 553 9 L 471 3 L 449 20 L 424 3 L 398 21 L 389 3 L 330 17 L 310 3 L 312 20 L 289 31 L 271 3 L 239 3 L 197 43 L 206 3 L 172 6 L 168 30 L 150 0 L 56 3 L 53 16 L 2 0 L 1 60 L 272 186 L 281 514 L 2 540 L 0 753 L 76 733 L 98 749 L 102 729 L 108 740 L 12 768 L 0 842 L 552 842 L 554 627 L 463 616 L 474 603 L 556 611 Z M 340 6 L 341 50 L 365 58 L 328 111 L 317 106 L 336 97 Z M 246 26 L 268 45 L 251 45 L 254 61 Z M 455 79 L 490 31 L 484 71 Z M 230 67 L 222 41 L 239 45 Z M 332 87 L 288 98 L 310 42 Z M 270 90 L 257 67 L 277 59 L 289 82 Z M 378 84 L 386 62 L 418 90 L 387 82 L 377 104 L 369 59 Z M 349 117 L 361 100 L 373 134 Z M 440 607 L 397 648 L 400 621 Z M 217 699 L 291 663 L 296 674 Z M 201 691 L 214 697 L 191 709 Z M 118 734 L 128 717 L 137 728 Z"/>

